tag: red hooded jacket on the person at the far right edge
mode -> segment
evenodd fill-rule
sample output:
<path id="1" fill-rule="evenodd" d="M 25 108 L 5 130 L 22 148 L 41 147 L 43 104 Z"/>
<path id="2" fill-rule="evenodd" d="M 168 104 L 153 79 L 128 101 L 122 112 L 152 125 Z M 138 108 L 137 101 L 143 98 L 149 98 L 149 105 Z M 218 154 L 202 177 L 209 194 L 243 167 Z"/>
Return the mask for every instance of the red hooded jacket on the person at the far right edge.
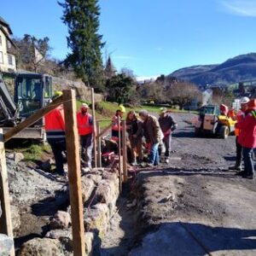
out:
<path id="1" fill-rule="evenodd" d="M 247 109 L 245 118 L 236 123 L 236 127 L 241 129 L 238 143 L 244 148 L 256 148 L 256 111 Z"/>

